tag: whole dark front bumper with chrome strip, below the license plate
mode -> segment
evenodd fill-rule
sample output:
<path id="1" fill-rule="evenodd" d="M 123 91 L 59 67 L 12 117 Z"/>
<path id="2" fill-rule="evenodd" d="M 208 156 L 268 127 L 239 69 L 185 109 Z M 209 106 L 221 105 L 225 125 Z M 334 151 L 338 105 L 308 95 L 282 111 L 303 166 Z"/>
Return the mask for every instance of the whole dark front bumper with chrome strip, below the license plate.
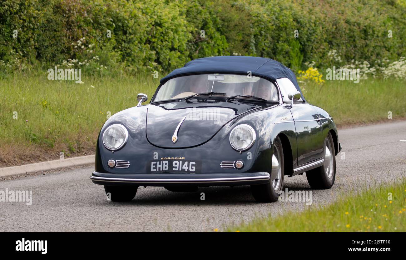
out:
<path id="1" fill-rule="evenodd" d="M 266 184 L 270 175 L 267 172 L 119 174 L 94 171 L 90 179 L 95 184 L 109 186 L 235 186 Z"/>

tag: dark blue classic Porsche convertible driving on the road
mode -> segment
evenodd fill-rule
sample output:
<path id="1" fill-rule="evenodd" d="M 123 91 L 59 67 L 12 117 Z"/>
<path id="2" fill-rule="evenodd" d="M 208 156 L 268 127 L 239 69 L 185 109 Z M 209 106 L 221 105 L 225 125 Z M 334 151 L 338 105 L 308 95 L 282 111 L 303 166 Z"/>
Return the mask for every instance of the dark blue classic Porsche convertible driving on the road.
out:
<path id="1" fill-rule="evenodd" d="M 333 118 L 304 99 L 281 63 L 201 58 L 160 83 L 149 104 L 139 94 L 100 131 L 90 178 L 111 200 L 132 200 L 138 186 L 251 185 L 257 201 L 275 202 L 284 176 L 304 172 L 313 189 L 333 186 L 341 150 Z"/>

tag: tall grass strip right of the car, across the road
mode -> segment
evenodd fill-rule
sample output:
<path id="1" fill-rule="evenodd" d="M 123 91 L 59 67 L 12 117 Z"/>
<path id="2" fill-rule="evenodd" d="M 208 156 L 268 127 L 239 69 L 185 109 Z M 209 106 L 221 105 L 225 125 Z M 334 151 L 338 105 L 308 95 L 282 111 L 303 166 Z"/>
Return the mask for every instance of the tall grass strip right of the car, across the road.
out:
<path id="1" fill-rule="evenodd" d="M 368 79 L 326 80 L 304 87 L 305 98 L 324 108 L 338 125 L 371 123 L 406 117 L 406 81 Z"/>

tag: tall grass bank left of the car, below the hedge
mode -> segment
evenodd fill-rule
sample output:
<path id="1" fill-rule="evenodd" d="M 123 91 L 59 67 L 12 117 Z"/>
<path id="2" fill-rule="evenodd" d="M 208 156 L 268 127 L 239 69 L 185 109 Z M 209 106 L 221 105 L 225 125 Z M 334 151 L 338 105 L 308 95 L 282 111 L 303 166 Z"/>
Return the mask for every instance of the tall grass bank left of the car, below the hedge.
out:
<path id="1" fill-rule="evenodd" d="M 0 163 L 93 153 L 107 116 L 136 106 L 140 92 L 151 97 L 159 84 L 152 75 L 82 81 L 48 80 L 44 73 L 0 80 Z"/>

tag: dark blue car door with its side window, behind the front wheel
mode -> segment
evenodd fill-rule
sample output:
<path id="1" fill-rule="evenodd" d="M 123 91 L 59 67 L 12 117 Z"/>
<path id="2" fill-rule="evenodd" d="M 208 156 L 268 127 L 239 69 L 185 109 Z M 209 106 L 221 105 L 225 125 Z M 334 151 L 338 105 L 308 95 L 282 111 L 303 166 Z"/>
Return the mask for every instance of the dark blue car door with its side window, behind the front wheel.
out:
<path id="1" fill-rule="evenodd" d="M 297 166 L 311 163 L 323 157 L 323 132 L 320 126 L 320 116 L 311 104 L 300 98 L 289 100 L 289 93 L 297 91 L 293 83 L 287 78 L 276 80 L 281 90 L 283 102 L 290 104 L 290 111 L 296 128 Z"/>

